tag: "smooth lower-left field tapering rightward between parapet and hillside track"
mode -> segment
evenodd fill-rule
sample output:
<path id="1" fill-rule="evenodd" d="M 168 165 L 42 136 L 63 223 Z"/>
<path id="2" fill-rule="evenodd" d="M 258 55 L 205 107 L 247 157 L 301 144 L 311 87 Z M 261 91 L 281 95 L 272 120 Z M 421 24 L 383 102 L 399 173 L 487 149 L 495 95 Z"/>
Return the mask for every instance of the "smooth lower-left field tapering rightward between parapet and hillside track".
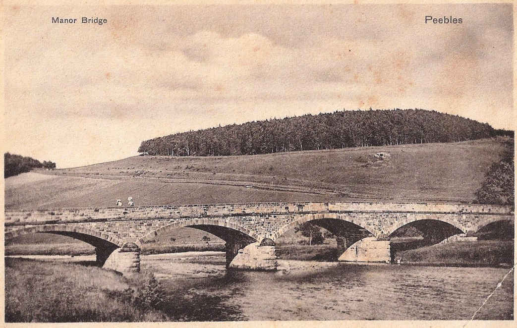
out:
<path id="1" fill-rule="evenodd" d="M 24 173 L 38 179 L 41 174 Z M 6 209 L 38 209 L 66 207 L 115 206 L 117 198 L 135 205 L 214 204 L 267 201 L 325 201 L 338 199 L 325 195 L 275 190 L 250 189 L 246 186 L 204 183 L 174 183 L 152 180 L 107 180 L 83 177 L 51 176 L 48 180 L 17 184 L 6 179 Z M 114 177 L 111 179 L 119 179 Z"/>

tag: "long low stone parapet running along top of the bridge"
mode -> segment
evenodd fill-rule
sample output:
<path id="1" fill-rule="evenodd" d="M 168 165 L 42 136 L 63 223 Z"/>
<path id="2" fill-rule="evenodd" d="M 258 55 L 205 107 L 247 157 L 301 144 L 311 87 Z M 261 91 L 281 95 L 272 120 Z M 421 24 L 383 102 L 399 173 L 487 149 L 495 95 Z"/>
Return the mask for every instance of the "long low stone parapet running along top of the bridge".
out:
<path id="1" fill-rule="evenodd" d="M 512 214 L 508 206 L 390 202 L 268 202 L 250 204 L 165 205 L 5 211 L 6 225 L 73 223 L 153 218 L 285 215 L 292 213 L 454 213 Z"/>

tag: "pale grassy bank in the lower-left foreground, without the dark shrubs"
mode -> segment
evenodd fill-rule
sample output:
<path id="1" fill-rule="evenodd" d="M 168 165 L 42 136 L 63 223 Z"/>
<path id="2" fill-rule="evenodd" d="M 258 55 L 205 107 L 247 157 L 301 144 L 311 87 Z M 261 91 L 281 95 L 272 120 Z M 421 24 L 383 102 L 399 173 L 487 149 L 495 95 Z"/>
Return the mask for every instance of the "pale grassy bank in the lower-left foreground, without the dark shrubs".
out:
<path id="1" fill-rule="evenodd" d="M 128 298 L 140 282 L 78 264 L 5 259 L 6 322 L 163 321 Z"/>

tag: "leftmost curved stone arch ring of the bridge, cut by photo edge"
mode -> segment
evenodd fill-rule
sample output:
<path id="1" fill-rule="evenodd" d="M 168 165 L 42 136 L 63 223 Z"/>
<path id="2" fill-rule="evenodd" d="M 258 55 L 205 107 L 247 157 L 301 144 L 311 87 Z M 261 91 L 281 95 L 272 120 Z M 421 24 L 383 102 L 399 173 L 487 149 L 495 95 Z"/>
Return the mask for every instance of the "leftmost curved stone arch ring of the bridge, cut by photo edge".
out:
<path id="1" fill-rule="evenodd" d="M 56 235 L 62 235 L 84 241 L 95 247 L 110 247 L 118 248 L 124 245 L 124 242 L 109 233 L 100 232 L 95 229 L 90 229 L 81 226 L 71 226 L 66 224 L 53 224 L 53 225 L 37 225 L 27 227 L 18 230 L 12 230 L 5 232 L 5 240 L 11 240 L 13 238 L 28 235 L 29 233 L 54 233 Z"/>

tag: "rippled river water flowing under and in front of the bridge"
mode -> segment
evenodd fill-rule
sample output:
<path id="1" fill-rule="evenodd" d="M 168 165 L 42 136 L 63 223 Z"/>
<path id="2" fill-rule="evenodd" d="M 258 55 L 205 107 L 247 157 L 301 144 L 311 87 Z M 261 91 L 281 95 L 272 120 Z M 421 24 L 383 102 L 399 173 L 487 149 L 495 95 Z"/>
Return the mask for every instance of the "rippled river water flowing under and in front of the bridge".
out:
<path id="1" fill-rule="evenodd" d="M 469 320 L 491 293 L 475 319 L 513 319 L 513 271 L 496 288 L 507 268 L 279 260 L 278 269 L 227 271 L 220 252 L 141 257 L 177 321 Z"/>

